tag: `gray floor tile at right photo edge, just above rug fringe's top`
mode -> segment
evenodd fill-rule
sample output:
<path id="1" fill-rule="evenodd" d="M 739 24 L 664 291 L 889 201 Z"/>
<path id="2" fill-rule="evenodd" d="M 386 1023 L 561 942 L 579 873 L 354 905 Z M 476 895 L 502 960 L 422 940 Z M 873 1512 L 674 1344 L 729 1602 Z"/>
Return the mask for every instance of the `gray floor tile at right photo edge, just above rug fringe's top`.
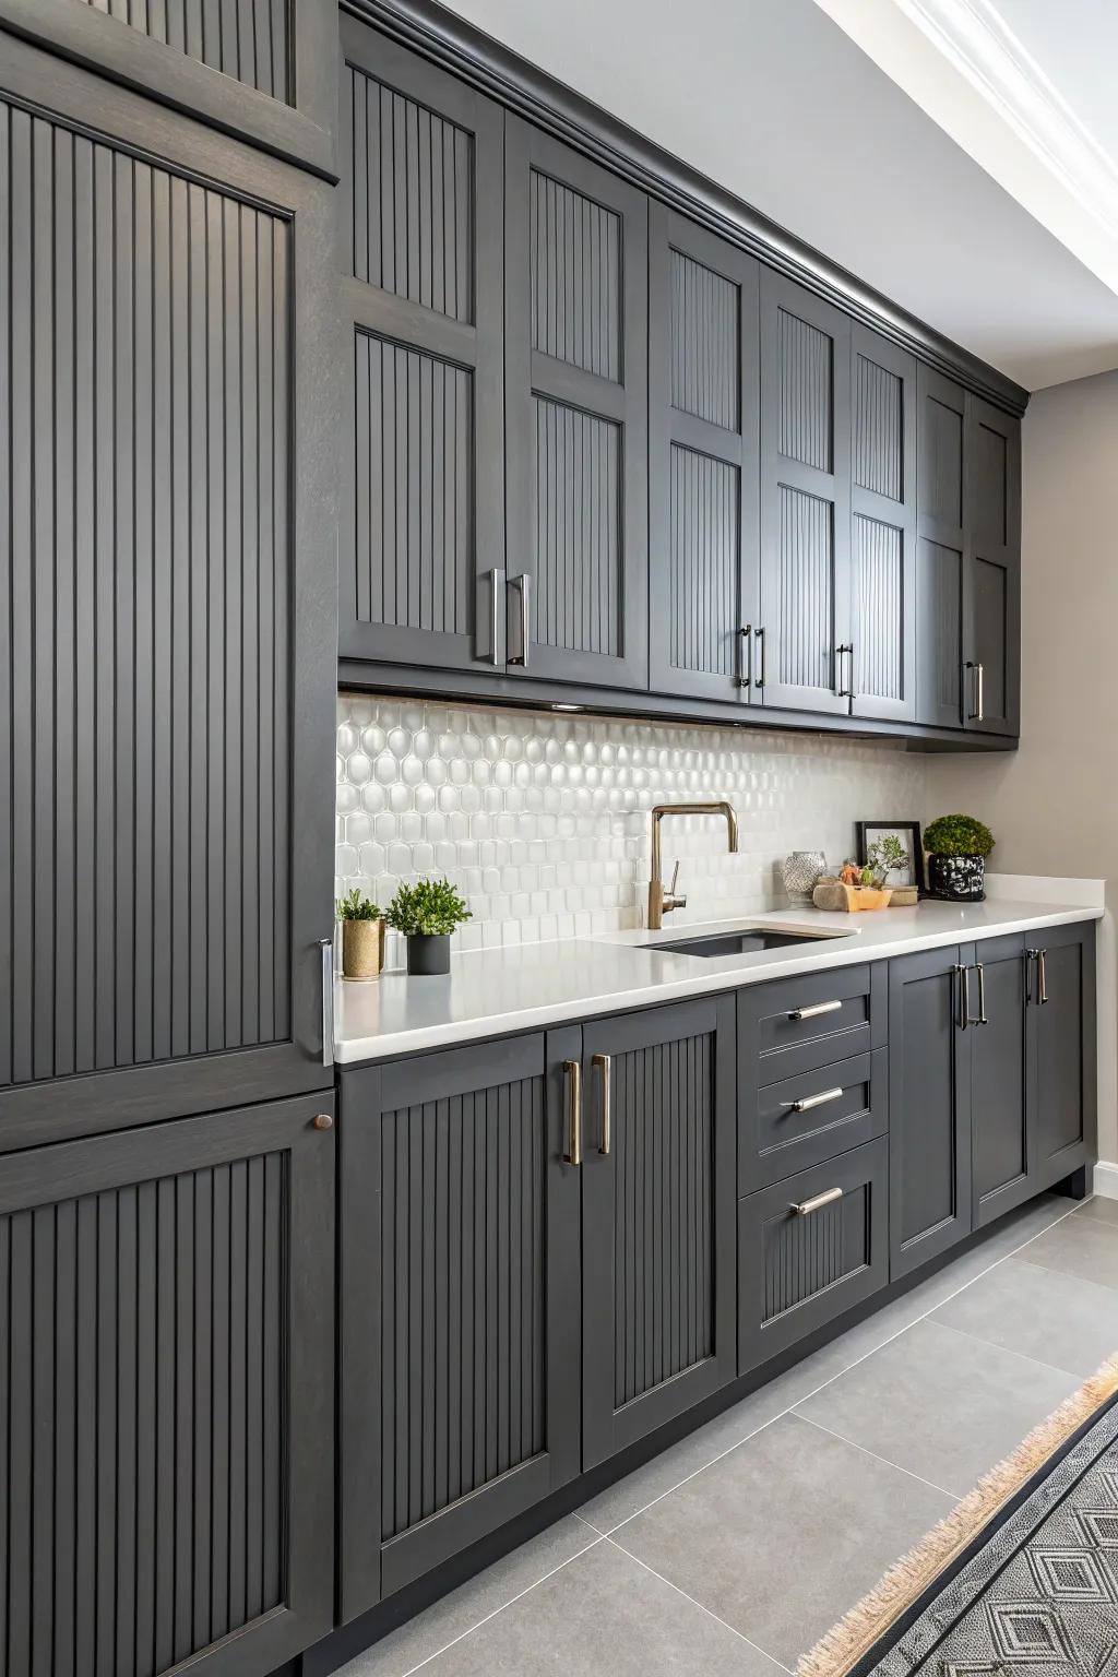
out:
<path id="1" fill-rule="evenodd" d="M 1021 1258 L 997 1264 L 930 1320 L 1081 1378 L 1118 1352 L 1118 1291 Z"/>

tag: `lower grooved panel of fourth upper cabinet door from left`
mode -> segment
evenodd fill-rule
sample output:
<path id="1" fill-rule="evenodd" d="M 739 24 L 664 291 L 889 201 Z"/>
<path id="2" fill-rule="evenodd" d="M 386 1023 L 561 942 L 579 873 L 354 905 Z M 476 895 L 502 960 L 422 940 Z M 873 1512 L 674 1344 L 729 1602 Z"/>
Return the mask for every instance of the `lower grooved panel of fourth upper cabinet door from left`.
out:
<path id="1" fill-rule="evenodd" d="M 779 590 L 774 652 L 779 679 L 831 686 L 835 644 L 835 510 L 816 495 L 779 486 Z"/>

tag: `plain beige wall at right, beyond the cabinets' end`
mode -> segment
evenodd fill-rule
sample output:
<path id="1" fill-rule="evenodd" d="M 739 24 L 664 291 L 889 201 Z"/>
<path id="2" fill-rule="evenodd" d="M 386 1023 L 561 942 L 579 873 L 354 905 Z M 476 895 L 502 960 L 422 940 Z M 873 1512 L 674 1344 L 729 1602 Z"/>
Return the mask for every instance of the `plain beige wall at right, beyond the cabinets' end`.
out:
<path id="1" fill-rule="evenodd" d="M 1118 372 L 1033 396 L 1022 426 L 1021 748 L 942 756 L 927 815 L 965 810 L 1004 874 L 1106 879 L 1100 1154 L 1118 1160 Z"/>

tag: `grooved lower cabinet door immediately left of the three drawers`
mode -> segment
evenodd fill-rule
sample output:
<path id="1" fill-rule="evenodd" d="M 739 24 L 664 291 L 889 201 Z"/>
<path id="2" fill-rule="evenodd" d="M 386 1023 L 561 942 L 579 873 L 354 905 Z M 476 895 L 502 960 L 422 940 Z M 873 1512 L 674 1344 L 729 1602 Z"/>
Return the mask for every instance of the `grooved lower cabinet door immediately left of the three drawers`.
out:
<path id="1" fill-rule="evenodd" d="M 734 1001 L 582 1036 L 585 1469 L 734 1378 Z"/>

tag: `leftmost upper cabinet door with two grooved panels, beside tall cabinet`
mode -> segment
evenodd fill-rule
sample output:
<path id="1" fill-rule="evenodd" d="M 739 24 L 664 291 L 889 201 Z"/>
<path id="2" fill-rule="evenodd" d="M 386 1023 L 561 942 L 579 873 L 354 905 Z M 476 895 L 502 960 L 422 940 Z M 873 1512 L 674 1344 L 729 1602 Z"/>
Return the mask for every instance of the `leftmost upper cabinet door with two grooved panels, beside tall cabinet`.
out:
<path id="1" fill-rule="evenodd" d="M 342 18 L 340 656 L 505 666 L 499 106 Z"/>

